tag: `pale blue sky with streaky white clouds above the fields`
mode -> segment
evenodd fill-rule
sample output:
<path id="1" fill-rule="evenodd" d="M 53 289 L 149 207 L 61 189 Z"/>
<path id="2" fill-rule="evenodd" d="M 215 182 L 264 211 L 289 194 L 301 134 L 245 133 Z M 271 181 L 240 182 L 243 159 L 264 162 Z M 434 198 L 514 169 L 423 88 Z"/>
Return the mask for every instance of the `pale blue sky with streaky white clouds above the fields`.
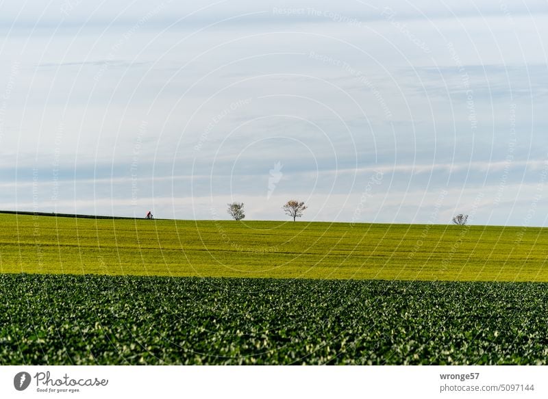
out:
<path id="1" fill-rule="evenodd" d="M 0 209 L 547 226 L 546 1 L 0 3 Z"/>

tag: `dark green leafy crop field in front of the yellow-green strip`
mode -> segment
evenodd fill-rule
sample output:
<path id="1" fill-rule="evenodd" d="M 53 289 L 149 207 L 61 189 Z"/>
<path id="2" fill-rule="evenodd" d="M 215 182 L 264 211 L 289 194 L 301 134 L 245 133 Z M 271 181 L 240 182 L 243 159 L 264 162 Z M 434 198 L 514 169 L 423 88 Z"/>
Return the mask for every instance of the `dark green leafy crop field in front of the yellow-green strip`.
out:
<path id="1" fill-rule="evenodd" d="M 546 364 L 547 283 L 0 275 L 0 364 Z"/>

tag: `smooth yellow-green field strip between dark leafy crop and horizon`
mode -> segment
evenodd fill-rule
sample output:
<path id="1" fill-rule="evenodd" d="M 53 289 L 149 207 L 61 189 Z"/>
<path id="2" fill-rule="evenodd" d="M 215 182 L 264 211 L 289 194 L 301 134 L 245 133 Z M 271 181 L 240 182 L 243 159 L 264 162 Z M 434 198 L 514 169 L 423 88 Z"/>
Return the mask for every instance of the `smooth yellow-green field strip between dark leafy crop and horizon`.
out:
<path id="1" fill-rule="evenodd" d="M 0 272 L 548 281 L 548 230 L 0 214 Z"/>

